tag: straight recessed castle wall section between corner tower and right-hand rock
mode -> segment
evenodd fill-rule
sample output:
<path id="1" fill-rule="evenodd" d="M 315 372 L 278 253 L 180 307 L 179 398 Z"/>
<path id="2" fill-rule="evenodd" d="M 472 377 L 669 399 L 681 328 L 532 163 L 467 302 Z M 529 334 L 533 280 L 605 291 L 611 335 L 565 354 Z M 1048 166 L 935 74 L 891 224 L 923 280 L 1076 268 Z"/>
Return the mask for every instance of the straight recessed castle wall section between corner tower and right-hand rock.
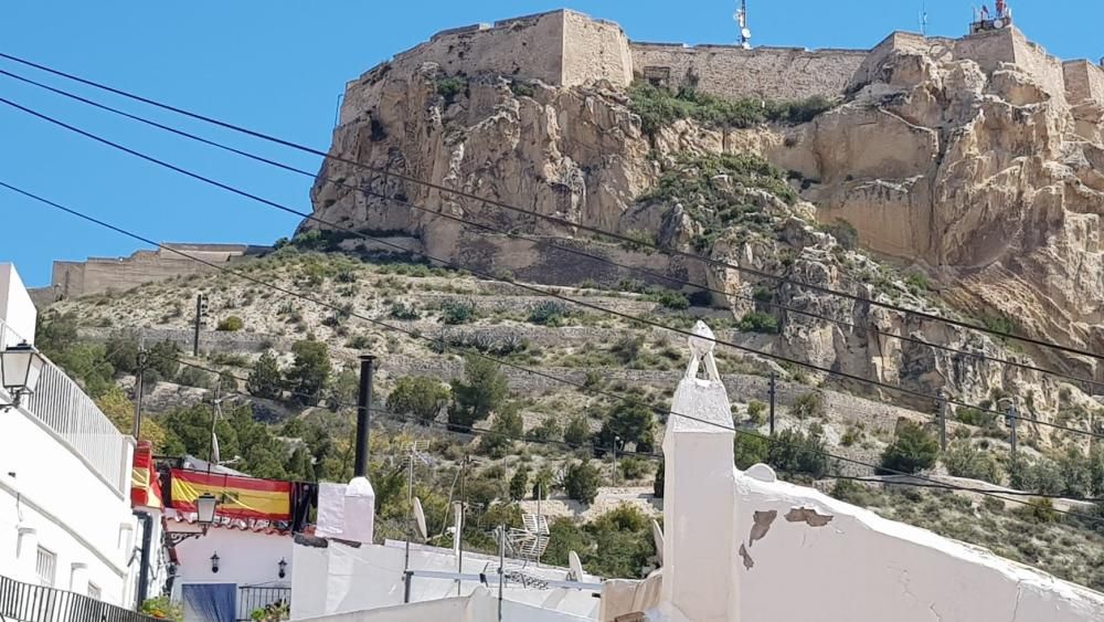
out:
<path id="1" fill-rule="evenodd" d="M 675 89 L 696 86 L 721 97 L 798 99 L 842 95 L 868 52 L 631 43 L 637 77 L 668 75 Z"/>

